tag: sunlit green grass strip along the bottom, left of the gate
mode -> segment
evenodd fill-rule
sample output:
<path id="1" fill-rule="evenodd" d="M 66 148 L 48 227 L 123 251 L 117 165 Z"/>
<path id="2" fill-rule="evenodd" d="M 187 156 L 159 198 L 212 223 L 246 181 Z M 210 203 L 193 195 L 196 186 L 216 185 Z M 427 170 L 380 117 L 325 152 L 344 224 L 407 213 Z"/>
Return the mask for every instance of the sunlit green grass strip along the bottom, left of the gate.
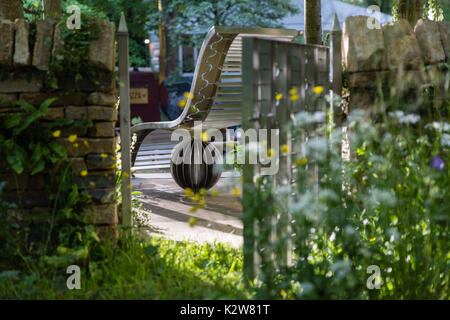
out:
<path id="1" fill-rule="evenodd" d="M 104 243 L 79 263 L 81 289 L 68 290 L 66 267 L 0 273 L 2 299 L 246 299 L 242 255 L 223 244 L 152 238 Z M 101 258 L 101 259 L 99 259 Z M 76 264 L 76 263 L 74 263 Z"/>

